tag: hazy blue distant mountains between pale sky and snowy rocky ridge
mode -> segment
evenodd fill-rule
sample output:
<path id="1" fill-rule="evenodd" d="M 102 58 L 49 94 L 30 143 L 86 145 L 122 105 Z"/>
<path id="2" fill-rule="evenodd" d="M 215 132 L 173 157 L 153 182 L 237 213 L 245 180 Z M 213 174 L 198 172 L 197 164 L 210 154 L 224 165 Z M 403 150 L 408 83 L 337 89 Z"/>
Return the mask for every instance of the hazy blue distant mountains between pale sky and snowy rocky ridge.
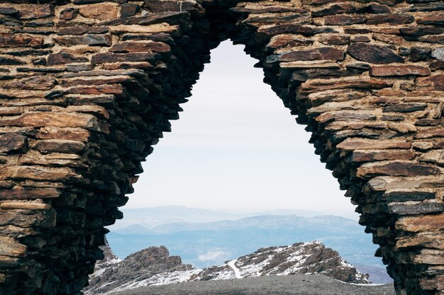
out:
<path id="1" fill-rule="evenodd" d="M 238 214 L 185 207 L 127 209 L 124 220 L 134 223 L 111 227 L 107 238 L 121 259 L 150 246 L 165 245 L 172 255 L 199 268 L 220 265 L 258 248 L 321 241 L 369 272 L 372 282 L 391 282 L 380 258 L 374 257 L 377 245 L 372 243 L 372 236 L 364 233 L 357 221 L 303 213 L 309 217 L 270 214 L 236 219 Z M 221 220 L 223 217 L 230 219 Z"/>

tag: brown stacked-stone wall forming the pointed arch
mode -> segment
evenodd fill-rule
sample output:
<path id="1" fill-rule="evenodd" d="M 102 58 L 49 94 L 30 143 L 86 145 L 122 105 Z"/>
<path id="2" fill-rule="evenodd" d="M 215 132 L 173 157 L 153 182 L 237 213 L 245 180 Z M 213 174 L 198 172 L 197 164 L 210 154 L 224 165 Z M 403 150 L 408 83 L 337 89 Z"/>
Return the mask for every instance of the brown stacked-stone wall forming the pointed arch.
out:
<path id="1" fill-rule="evenodd" d="M 0 0 L 1 295 L 82 294 L 228 38 L 311 132 L 396 293 L 444 294 L 443 1 Z"/>

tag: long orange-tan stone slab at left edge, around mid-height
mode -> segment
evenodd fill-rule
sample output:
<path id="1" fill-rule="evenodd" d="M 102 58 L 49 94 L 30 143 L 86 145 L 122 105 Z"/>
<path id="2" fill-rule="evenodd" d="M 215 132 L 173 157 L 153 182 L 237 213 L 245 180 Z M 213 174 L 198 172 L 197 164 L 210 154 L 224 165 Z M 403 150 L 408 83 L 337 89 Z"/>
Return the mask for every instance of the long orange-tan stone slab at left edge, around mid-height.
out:
<path id="1" fill-rule="evenodd" d="M 99 120 L 95 116 L 74 112 L 26 112 L 12 119 L 0 119 L 0 126 L 80 127 L 101 130 Z"/>

